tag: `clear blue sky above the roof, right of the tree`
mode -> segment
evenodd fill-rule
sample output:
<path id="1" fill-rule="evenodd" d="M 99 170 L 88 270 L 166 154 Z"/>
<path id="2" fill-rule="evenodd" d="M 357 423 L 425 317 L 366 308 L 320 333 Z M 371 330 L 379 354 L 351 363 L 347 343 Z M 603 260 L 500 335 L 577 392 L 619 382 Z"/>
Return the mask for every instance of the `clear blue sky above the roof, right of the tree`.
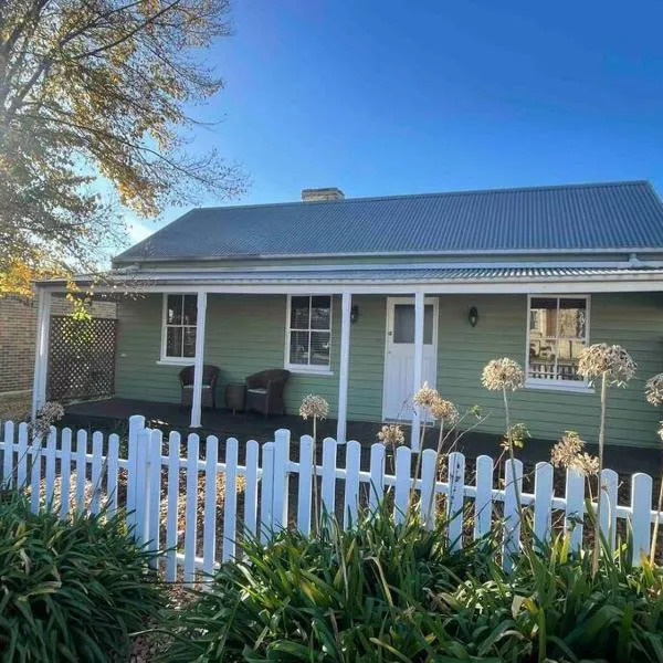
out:
<path id="1" fill-rule="evenodd" d="M 234 0 L 193 115 L 234 203 L 642 178 L 663 192 L 663 3 Z M 207 204 L 223 204 L 209 199 Z M 171 221 L 137 223 L 131 238 Z"/>

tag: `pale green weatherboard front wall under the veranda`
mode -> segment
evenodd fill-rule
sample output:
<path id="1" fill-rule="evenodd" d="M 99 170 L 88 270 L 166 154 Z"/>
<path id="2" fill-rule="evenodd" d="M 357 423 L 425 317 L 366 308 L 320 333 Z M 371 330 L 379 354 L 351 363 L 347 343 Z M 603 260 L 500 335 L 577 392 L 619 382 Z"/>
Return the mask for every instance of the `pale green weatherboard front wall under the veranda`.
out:
<path id="1" fill-rule="evenodd" d="M 525 362 L 525 295 L 444 295 L 440 299 L 438 388 L 461 408 L 473 404 L 490 413 L 481 430 L 503 431 L 498 394 L 481 387 L 481 370 L 492 358 Z M 287 387 L 290 412 L 307 393 L 324 396 L 336 411 L 338 396 L 339 303 L 334 298 L 330 376 L 294 375 Z M 359 319 L 351 327 L 348 417 L 381 418 L 386 297 L 356 296 Z M 472 328 L 467 311 L 476 306 Z M 285 296 L 209 295 L 206 362 L 221 368 L 218 401 L 228 382 L 264 368 L 282 367 L 285 350 Z M 161 295 L 122 304 L 117 347 L 116 394 L 164 402 L 179 400 L 180 367 L 157 364 L 161 338 Z M 663 296 L 600 294 L 591 297 L 590 341 L 623 345 L 638 362 L 638 378 L 628 389 L 611 389 L 608 408 L 610 443 L 656 445 L 661 419 L 642 396 L 644 381 L 663 370 Z M 513 419 L 527 423 L 534 438 L 556 439 L 577 430 L 596 439 L 599 400 L 594 393 L 525 389 L 512 396 Z M 372 442 L 372 440 L 370 441 Z"/>

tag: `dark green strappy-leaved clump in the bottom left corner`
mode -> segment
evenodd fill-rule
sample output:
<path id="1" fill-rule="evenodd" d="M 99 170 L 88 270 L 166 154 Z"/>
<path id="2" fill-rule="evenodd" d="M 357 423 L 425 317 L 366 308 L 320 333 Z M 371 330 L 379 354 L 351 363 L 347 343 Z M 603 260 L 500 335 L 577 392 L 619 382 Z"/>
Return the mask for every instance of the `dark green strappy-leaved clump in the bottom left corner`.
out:
<path id="1" fill-rule="evenodd" d="M 119 515 L 30 513 L 0 492 L 0 657 L 112 661 L 165 602 Z"/>

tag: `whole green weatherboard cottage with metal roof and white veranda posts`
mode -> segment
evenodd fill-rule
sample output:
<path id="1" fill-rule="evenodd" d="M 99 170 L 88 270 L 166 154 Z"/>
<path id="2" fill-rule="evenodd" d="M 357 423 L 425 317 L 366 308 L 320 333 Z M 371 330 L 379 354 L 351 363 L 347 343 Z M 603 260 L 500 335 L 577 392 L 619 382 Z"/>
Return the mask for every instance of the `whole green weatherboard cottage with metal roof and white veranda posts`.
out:
<path id="1" fill-rule="evenodd" d="M 119 305 L 115 396 L 179 402 L 196 366 L 191 425 L 204 424 L 202 367 L 228 383 L 286 368 L 285 406 L 318 393 L 338 418 L 420 425 L 424 380 L 499 411 L 482 367 L 526 370 L 515 417 L 534 438 L 591 441 L 599 399 L 577 373 L 589 343 L 621 344 L 639 379 L 611 393 L 611 444 L 653 446 L 660 413 L 642 396 L 663 370 L 663 204 L 644 181 L 193 209 L 118 255 L 95 292 Z M 81 282 L 85 283 L 85 277 Z M 39 285 L 40 333 L 61 282 Z M 48 344 L 41 344 L 41 347 Z M 34 407 L 45 400 L 38 352 Z M 488 417 L 485 432 L 504 430 Z"/>

